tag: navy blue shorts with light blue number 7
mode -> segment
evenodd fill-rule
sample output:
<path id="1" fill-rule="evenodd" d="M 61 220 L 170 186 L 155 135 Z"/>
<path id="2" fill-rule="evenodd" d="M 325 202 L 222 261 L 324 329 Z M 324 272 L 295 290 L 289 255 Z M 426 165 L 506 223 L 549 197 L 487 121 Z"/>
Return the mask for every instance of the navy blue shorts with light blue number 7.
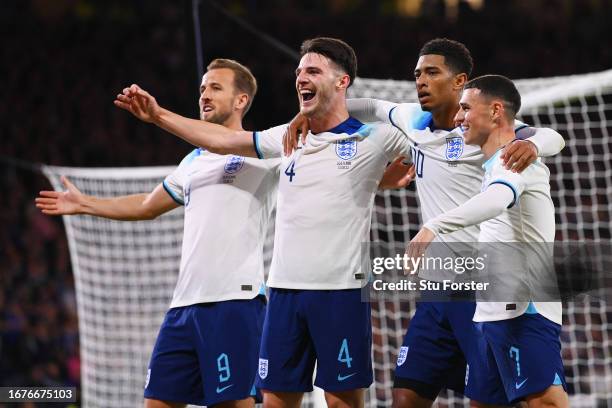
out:
<path id="1" fill-rule="evenodd" d="M 509 404 L 551 385 L 567 389 L 561 360 L 561 326 L 537 313 L 476 323 L 478 353 L 470 361 L 466 396 Z"/>

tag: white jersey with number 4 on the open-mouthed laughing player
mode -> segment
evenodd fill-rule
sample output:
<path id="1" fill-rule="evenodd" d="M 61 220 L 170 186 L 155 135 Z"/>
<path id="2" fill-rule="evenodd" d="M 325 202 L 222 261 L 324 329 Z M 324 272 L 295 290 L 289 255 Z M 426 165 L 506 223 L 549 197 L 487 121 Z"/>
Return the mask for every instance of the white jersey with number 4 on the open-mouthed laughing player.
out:
<path id="1" fill-rule="evenodd" d="M 253 135 L 259 157 L 278 157 L 286 125 Z M 370 240 L 374 197 L 387 163 L 409 154 L 402 132 L 349 118 L 310 133 L 283 158 L 274 254 L 268 286 L 355 289 L 367 280 L 363 244 Z"/>

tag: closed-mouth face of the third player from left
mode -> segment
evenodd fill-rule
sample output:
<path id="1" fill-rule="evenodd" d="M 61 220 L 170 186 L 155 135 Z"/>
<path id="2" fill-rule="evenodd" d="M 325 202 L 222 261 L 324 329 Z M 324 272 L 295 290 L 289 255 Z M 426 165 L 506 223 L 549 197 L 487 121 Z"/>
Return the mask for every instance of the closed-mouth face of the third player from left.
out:
<path id="1" fill-rule="evenodd" d="M 421 108 L 434 112 L 457 105 L 457 95 L 465 78 L 458 78 L 445 64 L 444 56 L 437 54 L 421 55 L 414 69 L 417 95 Z"/>

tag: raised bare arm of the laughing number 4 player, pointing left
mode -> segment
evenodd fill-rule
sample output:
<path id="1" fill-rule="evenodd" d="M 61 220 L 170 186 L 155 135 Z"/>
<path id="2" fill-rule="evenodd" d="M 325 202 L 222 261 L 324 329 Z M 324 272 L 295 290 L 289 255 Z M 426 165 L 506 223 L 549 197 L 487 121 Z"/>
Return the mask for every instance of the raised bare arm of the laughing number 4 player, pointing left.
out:
<path id="1" fill-rule="evenodd" d="M 178 115 L 159 106 L 155 98 L 138 85 L 125 88 L 123 93 L 118 94 L 115 105 L 212 153 L 257 157 L 252 132 L 232 130 Z"/>

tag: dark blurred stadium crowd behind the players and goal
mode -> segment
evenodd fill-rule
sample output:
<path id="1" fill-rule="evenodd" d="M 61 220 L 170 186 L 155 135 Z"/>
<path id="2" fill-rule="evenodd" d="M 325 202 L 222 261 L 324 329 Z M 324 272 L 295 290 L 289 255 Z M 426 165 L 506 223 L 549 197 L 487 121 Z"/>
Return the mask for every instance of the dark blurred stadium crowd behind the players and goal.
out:
<path id="1" fill-rule="evenodd" d="M 548 77 L 612 67 L 607 46 L 612 1 L 236 0 L 218 5 L 226 12 L 206 1 L 201 6 L 204 63 L 227 57 L 253 70 L 260 91 L 247 128 L 266 128 L 295 113 L 296 62 L 236 17 L 293 50 L 316 35 L 343 38 L 355 47 L 359 75 L 368 78 L 412 79 L 420 46 L 437 36 L 470 48 L 474 75 Z M 112 100 L 136 82 L 162 105 L 197 116 L 191 2 L 11 0 L 0 5 L 0 31 L 0 386 L 78 386 L 78 326 L 66 237 L 59 218 L 35 209 L 37 191 L 49 185 L 28 165 L 178 163 L 188 145 L 139 123 Z"/>

